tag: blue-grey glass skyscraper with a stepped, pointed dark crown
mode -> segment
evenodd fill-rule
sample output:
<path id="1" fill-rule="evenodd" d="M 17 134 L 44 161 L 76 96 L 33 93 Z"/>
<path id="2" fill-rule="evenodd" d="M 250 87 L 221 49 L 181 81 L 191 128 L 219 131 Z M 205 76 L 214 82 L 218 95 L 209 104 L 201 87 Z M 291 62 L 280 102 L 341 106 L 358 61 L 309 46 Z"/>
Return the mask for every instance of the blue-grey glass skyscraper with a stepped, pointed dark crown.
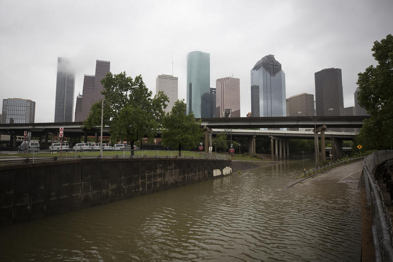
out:
<path id="1" fill-rule="evenodd" d="M 281 63 L 268 55 L 251 70 L 252 116 L 286 116 L 285 73 Z"/>

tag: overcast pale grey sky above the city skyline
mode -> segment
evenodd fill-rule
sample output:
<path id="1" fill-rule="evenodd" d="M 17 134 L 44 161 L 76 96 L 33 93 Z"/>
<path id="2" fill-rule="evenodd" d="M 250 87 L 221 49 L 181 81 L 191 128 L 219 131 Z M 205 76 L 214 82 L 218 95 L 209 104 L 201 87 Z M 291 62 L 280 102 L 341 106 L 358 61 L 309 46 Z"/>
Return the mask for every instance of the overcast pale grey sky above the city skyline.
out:
<path id="1" fill-rule="evenodd" d="M 250 70 L 272 54 L 281 62 L 286 97 L 315 94 L 314 73 L 342 69 L 344 106 L 353 106 L 357 74 L 375 64 L 371 48 L 393 30 L 392 0 L 83 1 L 0 0 L 0 105 L 36 102 L 35 122 L 53 122 L 57 57 L 76 65 L 75 97 L 95 60 L 111 71 L 179 79 L 186 98 L 186 57 L 210 53 L 210 86 L 240 78 L 241 116 L 251 112 Z M 75 102 L 74 102 L 75 107 Z M 2 107 L 1 107 L 2 108 Z"/>

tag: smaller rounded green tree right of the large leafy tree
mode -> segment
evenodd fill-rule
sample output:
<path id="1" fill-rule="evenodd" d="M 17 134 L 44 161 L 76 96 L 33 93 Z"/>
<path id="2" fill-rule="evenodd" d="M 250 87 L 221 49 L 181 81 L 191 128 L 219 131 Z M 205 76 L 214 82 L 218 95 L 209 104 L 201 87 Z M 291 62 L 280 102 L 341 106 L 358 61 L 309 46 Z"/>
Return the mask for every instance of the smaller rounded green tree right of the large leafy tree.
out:
<path id="1" fill-rule="evenodd" d="M 179 156 L 182 146 L 186 148 L 197 146 L 203 136 L 203 130 L 200 128 L 200 120 L 195 120 L 193 113 L 186 115 L 184 99 L 177 100 L 172 111 L 164 117 L 162 135 L 162 144 L 173 148 L 178 146 Z"/>

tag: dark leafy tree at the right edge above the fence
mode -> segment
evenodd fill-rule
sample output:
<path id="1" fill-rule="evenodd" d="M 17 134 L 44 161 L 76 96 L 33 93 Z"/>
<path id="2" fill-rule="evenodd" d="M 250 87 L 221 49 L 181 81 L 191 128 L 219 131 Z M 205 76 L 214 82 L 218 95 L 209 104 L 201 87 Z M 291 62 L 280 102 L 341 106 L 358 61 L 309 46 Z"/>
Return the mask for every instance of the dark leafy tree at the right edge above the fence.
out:
<path id="1" fill-rule="evenodd" d="M 387 149 L 393 138 L 393 36 L 375 41 L 371 49 L 378 62 L 359 73 L 359 105 L 370 114 L 357 137 L 367 149 Z"/>

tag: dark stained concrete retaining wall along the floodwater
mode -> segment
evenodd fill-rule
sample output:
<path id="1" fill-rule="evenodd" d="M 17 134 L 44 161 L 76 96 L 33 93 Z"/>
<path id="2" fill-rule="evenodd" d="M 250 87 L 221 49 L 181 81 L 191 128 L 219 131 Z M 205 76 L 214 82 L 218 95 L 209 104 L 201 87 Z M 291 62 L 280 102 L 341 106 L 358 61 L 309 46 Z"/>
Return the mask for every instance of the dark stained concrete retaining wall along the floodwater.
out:
<path id="1" fill-rule="evenodd" d="M 229 160 L 85 159 L 0 167 L 0 226 L 229 174 Z"/>

